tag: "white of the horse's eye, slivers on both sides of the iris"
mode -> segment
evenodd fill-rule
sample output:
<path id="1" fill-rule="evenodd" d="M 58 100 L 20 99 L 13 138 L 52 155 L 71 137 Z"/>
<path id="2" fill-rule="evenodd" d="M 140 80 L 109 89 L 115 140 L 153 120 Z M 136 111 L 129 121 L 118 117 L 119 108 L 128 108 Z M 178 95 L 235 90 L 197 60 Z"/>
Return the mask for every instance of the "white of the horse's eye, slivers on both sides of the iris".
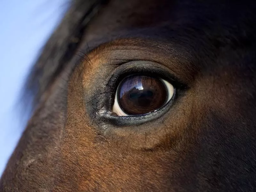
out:
<path id="1" fill-rule="evenodd" d="M 170 84 L 168 81 L 165 81 L 164 79 L 161 79 L 161 81 L 165 84 L 166 86 L 166 89 L 167 89 L 167 100 L 166 102 L 164 103 L 164 105 L 166 103 L 168 103 L 171 99 L 172 99 L 172 96 L 174 94 L 174 87 L 172 86 L 172 84 Z M 115 95 L 115 101 L 114 101 L 114 105 L 113 105 L 113 108 L 112 108 L 112 111 L 114 113 L 116 113 L 118 116 L 130 116 L 128 114 L 126 114 L 120 107 L 120 105 L 118 104 L 118 99 L 117 99 L 117 91 L 118 91 L 119 88 L 117 88 L 116 90 L 116 95 Z"/>

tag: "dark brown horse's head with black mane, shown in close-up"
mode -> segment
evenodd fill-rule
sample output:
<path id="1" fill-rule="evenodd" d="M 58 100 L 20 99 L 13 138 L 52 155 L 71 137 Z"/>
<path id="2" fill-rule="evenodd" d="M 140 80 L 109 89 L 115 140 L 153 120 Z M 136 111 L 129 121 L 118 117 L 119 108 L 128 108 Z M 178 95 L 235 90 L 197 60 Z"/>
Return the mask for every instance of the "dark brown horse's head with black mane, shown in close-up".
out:
<path id="1" fill-rule="evenodd" d="M 0 191 L 254 191 L 255 10 L 73 0 L 28 76 Z"/>

